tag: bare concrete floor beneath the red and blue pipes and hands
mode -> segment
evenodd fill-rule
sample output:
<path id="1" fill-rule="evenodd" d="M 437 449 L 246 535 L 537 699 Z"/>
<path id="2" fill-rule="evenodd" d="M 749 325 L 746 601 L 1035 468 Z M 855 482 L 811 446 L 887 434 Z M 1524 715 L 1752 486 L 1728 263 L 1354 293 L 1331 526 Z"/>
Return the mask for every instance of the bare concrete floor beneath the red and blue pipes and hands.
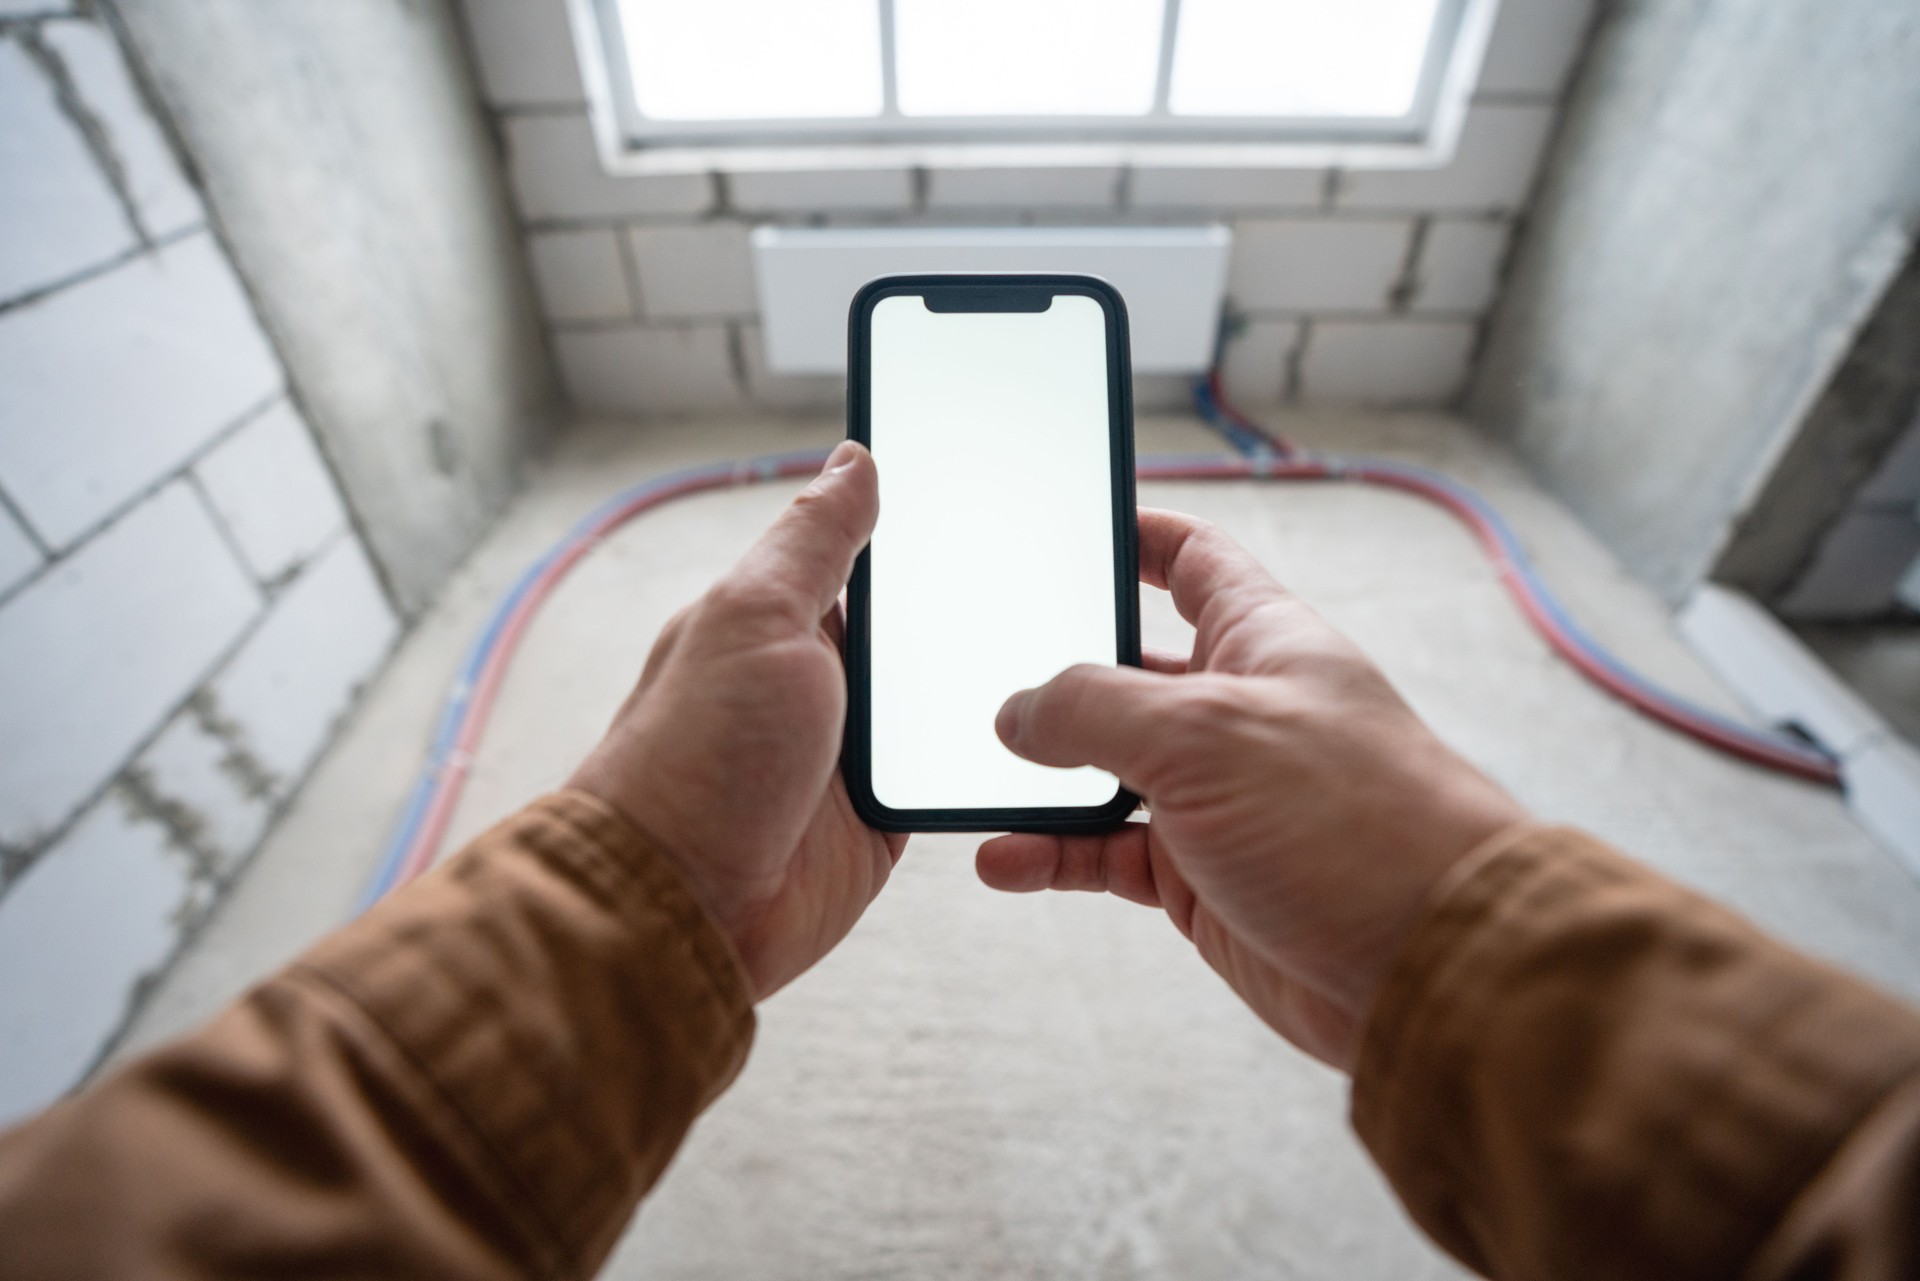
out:
<path id="1" fill-rule="evenodd" d="M 1603 641 L 1732 711 L 1661 603 L 1465 424 L 1327 415 L 1281 426 L 1478 486 Z M 461 647 L 582 511 L 672 467 L 835 434 L 831 423 L 708 423 L 564 440 L 403 643 L 129 1047 L 194 1026 L 348 914 Z M 1140 426 L 1142 451 L 1206 447 L 1188 423 Z M 687 499 L 580 567 L 522 649 L 455 837 L 566 776 L 660 622 L 797 488 Z M 1716 757 L 1592 689 L 1524 626 L 1448 517 L 1344 486 L 1150 484 L 1142 501 L 1204 515 L 1256 549 L 1536 812 L 1920 997 L 1920 887 L 1839 799 Z M 1144 595 L 1148 641 L 1181 643 L 1185 624 Z M 1455 1275 L 1350 1137 L 1344 1081 L 1265 1031 L 1164 918 L 1112 899 L 993 895 L 973 882 L 972 847 L 916 837 L 849 943 L 764 1006 L 745 1076 L 695 1129 L 609 1275 Z"/>

